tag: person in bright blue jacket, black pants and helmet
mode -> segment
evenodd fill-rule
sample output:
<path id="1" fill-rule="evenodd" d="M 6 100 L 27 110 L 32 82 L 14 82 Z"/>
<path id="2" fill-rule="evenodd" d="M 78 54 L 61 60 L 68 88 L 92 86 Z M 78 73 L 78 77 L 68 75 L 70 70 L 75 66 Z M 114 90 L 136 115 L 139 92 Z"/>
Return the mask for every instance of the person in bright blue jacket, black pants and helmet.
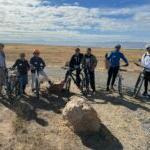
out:
<path id="1" fill-rule="evenodd" d="M 112 51 L 109 55 L 107 55 L 107 60 L 109 62 L 107 88 L 106 88 L 107 91 L 110 90 L 110 82 L 111 82 L 111 90 L 114 91 L 114 83 L 120 68 L 120 60 L 122 59 L 125 62 L 125 65 L 123 66 L 129 65 L 127 58 L 124 56 L 122 52 L 120 52 L 120 50 L 121 45 L 116 45 L 115 50 Z"/>

